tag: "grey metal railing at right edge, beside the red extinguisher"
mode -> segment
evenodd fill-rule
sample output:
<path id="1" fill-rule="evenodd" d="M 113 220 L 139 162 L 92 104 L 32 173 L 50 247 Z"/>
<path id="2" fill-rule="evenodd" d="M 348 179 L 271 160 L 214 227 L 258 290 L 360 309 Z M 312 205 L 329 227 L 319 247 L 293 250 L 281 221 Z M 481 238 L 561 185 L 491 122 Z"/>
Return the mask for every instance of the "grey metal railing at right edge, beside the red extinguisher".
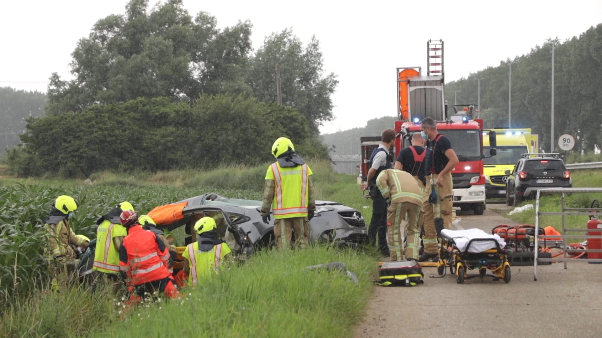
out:
<path id="1" fill-rule="evenodd" d="M 535 259 L 533 263 L 533 280 L 537 280 L 537 263 L 538 262 L 563 262 L 564 268 L 566 269 L 566 263 L 569 261 L 574 261 L 576 259 L 572 259 L 567 257 L 568 251 L 577 251 L 577 250 L 566 250 L 566 239 L 567 238 L 601 238 L 602 236 L 592 236 L 585 233 L 584 235 L 565 235 L 567 232 L 588 232 L 592 231 L 592 229 L 566 229 L 566 216 L 595 216 L 600 215 L 602 212 L 602 208 L 567 208 L 565 207 L 565 194 L 566 193 L 579 193 L 579 192 L 600 192 L 602 193 L 602 188 L 542 188 L 537 190 L 537 196 L 535 198 L 535 248 L 539 248 L 539 239 L 562 239 L 562 248 L 564 248 L 563 257 L 555 257 L 555 258 L 538 258 L 538 251 L 535 250 Z M 539 211 L 539 197 L 541 194 L 560 194 L 560 212 L 541 212 Z M 540 216 L 562 216 L 562 235 L 539 235 L 539 217 Z M 593 230 L 596 231 L 596 230 Z M 579 250 L 580 253 L 601 253 L 602 250 Z M 602 263 L 602 259 L 577 259 L 582 262 L 592 262 L 592 263 Z"/>

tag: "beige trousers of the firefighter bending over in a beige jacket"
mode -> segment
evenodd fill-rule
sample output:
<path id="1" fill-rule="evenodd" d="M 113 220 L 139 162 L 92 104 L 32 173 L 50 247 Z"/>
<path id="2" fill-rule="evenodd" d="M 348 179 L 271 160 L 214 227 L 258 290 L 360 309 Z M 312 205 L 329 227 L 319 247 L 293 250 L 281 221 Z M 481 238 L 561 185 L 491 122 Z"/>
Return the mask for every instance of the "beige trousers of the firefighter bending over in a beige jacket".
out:
<path id="1" fill-rule="evenodd" d="M 418 259 L 420 245 L 420 206 L 402 202 L 391 203 L 386 212 L 386 238 L 391 253 L 391 262 L 403 260 L 403 238 L 406 237 L 405 258 Z M 403 230 L 403 231 L 402 231 Z"/>

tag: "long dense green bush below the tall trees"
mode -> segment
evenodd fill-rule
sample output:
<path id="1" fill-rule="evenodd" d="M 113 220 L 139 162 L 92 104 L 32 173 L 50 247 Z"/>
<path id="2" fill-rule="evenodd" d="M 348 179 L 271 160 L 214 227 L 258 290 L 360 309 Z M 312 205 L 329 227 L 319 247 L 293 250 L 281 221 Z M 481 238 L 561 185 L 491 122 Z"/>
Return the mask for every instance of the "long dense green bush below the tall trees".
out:
<path id="1" fill-rule="evenodd" d="M 273 159 L 270 146 L 281 136 L 298 144 L 302 156 L 327 156 L 295 109 L 242 96 L 200 96 L 191 105 L 136 99 L 30 118 L 26 128 L 23 145 L 8 153 L 19 176 L 255 165 Z"/>

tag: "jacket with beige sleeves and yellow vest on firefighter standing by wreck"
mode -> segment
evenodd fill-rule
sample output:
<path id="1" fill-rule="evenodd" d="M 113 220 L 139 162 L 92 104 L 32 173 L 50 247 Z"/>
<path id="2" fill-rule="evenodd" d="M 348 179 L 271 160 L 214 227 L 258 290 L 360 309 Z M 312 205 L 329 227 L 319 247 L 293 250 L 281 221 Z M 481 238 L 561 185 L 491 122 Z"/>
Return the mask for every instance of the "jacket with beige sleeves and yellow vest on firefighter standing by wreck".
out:
<path id="1" fill-rule="evenodd" d="M 312 171 L 307 164 L 282 168 L 278 162 L 267 168 L 262 215 L 270 212 L 274 218 L 307 217 L 309 210 L 315 209 Z"/>

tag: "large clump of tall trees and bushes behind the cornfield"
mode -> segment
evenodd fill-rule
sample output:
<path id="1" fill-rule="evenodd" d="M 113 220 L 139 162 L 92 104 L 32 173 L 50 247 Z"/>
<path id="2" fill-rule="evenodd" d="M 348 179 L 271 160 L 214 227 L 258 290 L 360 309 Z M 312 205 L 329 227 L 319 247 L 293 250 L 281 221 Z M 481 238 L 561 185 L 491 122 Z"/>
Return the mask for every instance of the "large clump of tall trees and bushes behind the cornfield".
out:
<path id="1" fill-rule="evenodd" d="M 323 69 L 318 40 L 303 45 L 284 29 L 253 51 L 251 34 L 248 20 L 220 29 L 209 13 L 191 16 L 182 0 L 152 8 L 129 1 L 78 41 L 72 80 L 51 75 L 46 117 L 28 120 L 9 165 L 23 176 L 73 177 L 255 164 L 280 136 L 305 145 L 305 156 L 327 156 L 318 126 L 333 118 L 338 81 Z M 122 150 L 134 144 L 125 161 Z"/>

